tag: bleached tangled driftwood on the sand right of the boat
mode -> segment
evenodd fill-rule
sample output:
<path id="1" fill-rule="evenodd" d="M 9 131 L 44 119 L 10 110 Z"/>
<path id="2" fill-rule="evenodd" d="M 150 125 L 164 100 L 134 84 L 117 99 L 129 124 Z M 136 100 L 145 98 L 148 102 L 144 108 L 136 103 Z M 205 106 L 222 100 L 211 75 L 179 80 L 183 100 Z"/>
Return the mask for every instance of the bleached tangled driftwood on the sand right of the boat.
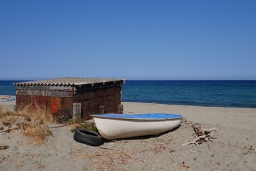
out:
<path id="1" fill-rule="evenodd" d="M 215 139 L 213 137 L 213 133 L 217 129 L 216 128 L 202 128 L 201 125 L 199 125 L 199 126 L 193 125 L 193 130 L 195 131 L 195 133 L 193 133 L 193 135 L 196 135 L 197 138 L 195 138 L 195 140 L 185 143 L 183 145 L 190 145 L 190 144 L 200 145 L 203 142 L 207 142 L 210 139 Z"/>

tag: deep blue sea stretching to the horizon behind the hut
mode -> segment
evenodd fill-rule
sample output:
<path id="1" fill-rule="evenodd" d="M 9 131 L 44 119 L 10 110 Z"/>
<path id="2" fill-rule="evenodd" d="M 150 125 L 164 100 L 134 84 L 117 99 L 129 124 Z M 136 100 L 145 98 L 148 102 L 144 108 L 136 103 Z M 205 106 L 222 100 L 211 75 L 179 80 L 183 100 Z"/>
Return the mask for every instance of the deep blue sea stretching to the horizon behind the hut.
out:
<path id="1" fill-rule="evenodd" d="M 0 95 L 15 95 L 12 83 L 0 81 Z M 123 102 L 256 108 L 256 81 L 126 81 Z"/>

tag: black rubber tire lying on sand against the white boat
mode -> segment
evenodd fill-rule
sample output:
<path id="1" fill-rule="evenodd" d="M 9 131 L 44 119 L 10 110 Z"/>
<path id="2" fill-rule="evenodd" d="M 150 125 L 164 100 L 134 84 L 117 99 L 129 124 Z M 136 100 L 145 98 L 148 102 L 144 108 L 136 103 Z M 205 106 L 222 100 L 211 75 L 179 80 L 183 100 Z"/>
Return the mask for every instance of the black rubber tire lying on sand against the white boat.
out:
<path id="1" fill-rule="evenodd" d="M 73 139 L 76 142 L 81 142 L 86 145 L 100 146 L 103 145 L 103 137 L 92 130 L 76 129 L 73 134 Z"/>

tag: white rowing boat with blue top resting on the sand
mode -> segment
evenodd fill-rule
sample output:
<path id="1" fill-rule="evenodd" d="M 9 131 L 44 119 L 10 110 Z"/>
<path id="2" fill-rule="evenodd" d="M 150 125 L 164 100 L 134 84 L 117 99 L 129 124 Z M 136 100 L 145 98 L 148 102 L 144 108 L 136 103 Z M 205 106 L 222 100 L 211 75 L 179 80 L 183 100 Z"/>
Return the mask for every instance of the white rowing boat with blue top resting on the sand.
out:
<path id="1" fill-rule="evenodd" d="M 91 115 L 98 132 L 108 140 L 157 135 L 180 125 L 182 115 L 151 114 L 103 114 Z"/>

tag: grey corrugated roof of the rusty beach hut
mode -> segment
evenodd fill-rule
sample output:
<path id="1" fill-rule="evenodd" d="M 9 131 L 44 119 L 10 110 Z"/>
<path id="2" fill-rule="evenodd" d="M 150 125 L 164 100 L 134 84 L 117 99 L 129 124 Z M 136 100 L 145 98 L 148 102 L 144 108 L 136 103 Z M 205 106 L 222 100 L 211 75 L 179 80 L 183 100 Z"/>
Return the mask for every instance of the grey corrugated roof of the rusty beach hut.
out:
<path id="1" fill-rule="evenodd" d="M 79 86 L 93 83 L 107 83 L 115 81 L 125 81 L 125 79 L 118 78 L 79 78 L 79 77 L 67 77 L 56 78 L 49 80 L 39 81 L 26 81 L 14 83 L 15 86 Z"/>

